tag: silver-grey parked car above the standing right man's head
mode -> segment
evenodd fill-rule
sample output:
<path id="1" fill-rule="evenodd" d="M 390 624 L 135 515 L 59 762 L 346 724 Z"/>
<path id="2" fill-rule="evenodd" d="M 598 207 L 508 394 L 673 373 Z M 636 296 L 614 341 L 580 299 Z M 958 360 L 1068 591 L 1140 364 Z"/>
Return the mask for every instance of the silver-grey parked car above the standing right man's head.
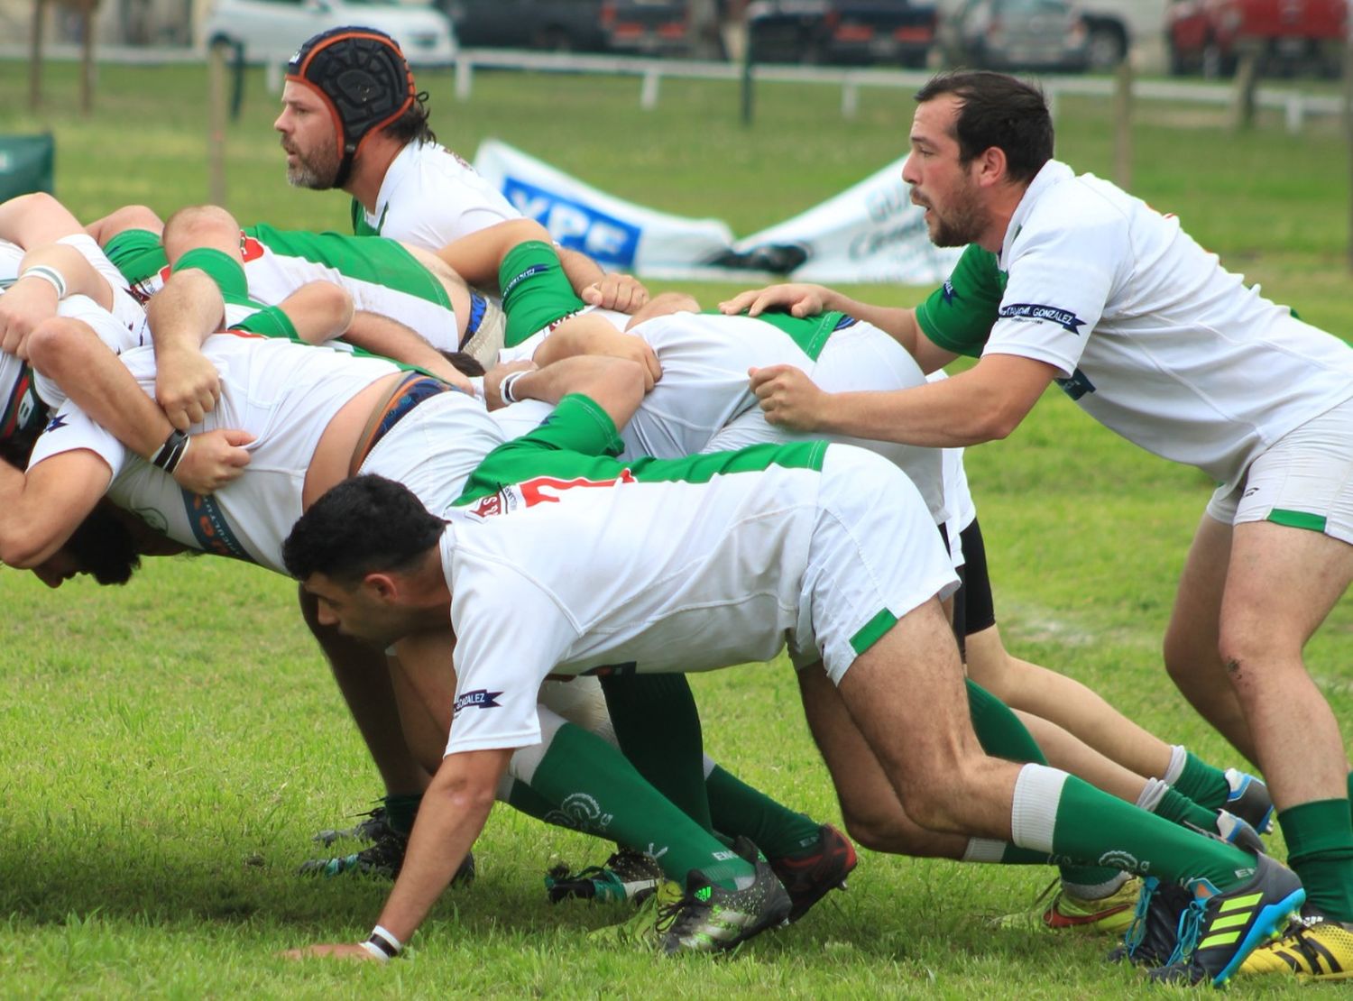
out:
<path id="1" fill-rule="evenodd" d="M 1089 32 L 1068 0 L 969 0 L 940 27 L 947 61 L 1004 70 L 1089 68 Z"/>

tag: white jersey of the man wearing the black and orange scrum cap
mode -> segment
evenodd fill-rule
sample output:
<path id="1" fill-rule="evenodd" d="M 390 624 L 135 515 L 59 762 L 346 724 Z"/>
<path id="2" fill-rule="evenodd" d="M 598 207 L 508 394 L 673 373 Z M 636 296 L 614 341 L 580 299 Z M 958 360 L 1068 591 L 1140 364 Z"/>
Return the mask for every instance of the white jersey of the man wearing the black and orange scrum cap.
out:
<path id="1" fill-rule="evenodd" d="M 410 142 L 391 161 L 376 211 L 352 202 L 352 231 L 440 250 L 521 212 L 469 164 L 436 142 Z"/>

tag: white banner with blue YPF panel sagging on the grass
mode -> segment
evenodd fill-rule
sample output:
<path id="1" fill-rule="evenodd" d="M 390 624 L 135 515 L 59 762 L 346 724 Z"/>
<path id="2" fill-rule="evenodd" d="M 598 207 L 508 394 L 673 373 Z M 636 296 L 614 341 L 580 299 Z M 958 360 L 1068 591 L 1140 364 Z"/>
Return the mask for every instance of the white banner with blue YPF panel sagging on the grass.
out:
<path id="1" fill-rule="evenodd" d="M 938 284 L 957 249 L 930 242 L 901 180 L 904 160 L 793 219 L 733 242 L 718 219 L 689 219 L 625 202 L 521 150 L 486 139 L 475 169 L 561 246 L 607 271 L 724 281 Z"/>

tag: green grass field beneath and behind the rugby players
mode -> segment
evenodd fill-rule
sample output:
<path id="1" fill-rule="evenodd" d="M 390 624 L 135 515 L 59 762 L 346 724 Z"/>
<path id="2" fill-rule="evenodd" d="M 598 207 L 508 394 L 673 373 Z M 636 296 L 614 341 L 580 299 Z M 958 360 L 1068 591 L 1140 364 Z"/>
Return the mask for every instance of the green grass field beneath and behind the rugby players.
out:
<path id="1" fill-rule="evenodd" d="M 0 81 L 26 91 L 26 66 Z M 127 202 L 161 212 L 206 199 L 206 74 L 104 68 L 97 112 L 76 106 L 70 68 L 49 70 L 47 112 L 12 100 L 0 131 L 57 135 L 57 193 L 92 218 Z M 426 74 L 441 138 L 472 156 L 495 135 L 655 208 L 728 219 L 750 233 L 896 158 L 902 93 L 866 92 L 843 120 L 831 88 L 763 87 L 758 120 L 736 91 L 482 73 L 474 100 Z M 230 203 L 245 220 L 342 227 L 346 200 L 283 180 L 276 99 L 248 81 L 230 127 Z M 1103 106 L 1063 100 L 1059 156 L 1108 174 Z M 1135 189 L 1174 211 L 1233 269 L 1346 334 L 1348 157 L 1337 123 L 1289 137 L 1277 122 L 1235 135 L 1196 108 L 1142 104 Z M 727 285 L 682 285 L 706 300 Z M 856 288 L 907 304 L 919 288 Z M 1203 476 L 1112 437 L 1050 394 L 1007 442 L 971 449 L 997 614 L 1011 649 L 1063 670 L 1204 758 L 1238 763 L 1184 705 L 1160 637 Z M 3 513 L 0 513 L 3 517 Z M 409 960 L 388 967 L 277 959 L 281 948 L 356 939 L 386 885 L 300 879 L 308 835 L 367 809 L 379 786 L 294 611 L 294 586 L 223 560 L 152 560 L 124 588 L 57 592 L 0 571 L 0 996 L 356 997 L 1112 997 L 1147 993 L 1101 962 L 1111 943 L 992 931 L 1028 906 L 1043 870 L 961 867 L 865 852 L 847 894 L 731 960 L 658 960 L 587 941 L 624 917 L 551 906 L 552 854 L 601 862 L 599 843 L 494 812 L 478 883 L 448 893 Z M 1353 610 L 1310 644 L 1312 675 L 1353 718 Z M 798 809 L 836 820 L 785 664 L 697 676 L 709 752 Z M 1292 985 L 1241 983 L 1275 994 Z"/>

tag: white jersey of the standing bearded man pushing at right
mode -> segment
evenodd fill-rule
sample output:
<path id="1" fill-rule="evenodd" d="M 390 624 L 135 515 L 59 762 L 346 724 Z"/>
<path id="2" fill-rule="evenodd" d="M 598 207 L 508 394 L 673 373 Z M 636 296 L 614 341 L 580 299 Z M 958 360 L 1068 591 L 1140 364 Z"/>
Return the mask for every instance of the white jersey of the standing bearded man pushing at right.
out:
<path id="1" fill-rule="evenodd" d="M 1011 219 L 984 353 L 1055 365 L 1086 413 L 1234 486 L 1353 396 L 1353 350 L 1246 288 L 1141 199 L 1050 161 Z"/>

